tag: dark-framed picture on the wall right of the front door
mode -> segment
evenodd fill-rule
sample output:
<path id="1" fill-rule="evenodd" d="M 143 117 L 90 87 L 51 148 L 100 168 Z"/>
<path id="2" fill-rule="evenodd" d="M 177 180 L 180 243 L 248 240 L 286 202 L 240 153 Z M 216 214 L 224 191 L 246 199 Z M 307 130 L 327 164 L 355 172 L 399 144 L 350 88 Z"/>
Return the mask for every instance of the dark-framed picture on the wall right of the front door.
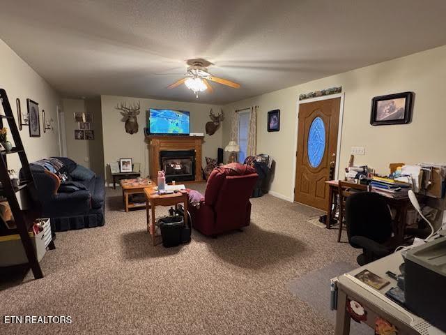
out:
<path id="1" fill-rule="evenodd" d="M 408 124 L 412 117 L 413 92 L 376 96 L 371 99 L 370 124 Z"/>

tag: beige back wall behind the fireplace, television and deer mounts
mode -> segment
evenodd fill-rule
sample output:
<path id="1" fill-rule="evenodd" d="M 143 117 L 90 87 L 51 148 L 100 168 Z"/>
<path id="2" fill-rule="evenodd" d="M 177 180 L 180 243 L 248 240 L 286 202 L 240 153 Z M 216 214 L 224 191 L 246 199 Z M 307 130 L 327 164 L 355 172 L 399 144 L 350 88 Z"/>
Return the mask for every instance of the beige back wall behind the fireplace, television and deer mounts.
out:
<path id="1" fill-rule="evenodd" d="M 190 112 L 190 131 L 192 133 L 205 133 L 203 142 L 204 157 L 217 158 L 217 148 L 222 147 L 222 127 L 212 136 L 206 135 L 205 124 L 210 121 L 209 111 L 220 111 L 218 105 L 201 103 L 181 103 L 176 101 L 163 101 L 144 98 L 130 98 L 123 96 L 101 96 L 102 104 L 102 131 L 104 136 L 104 161 L 107 176 L 109 176 L 108 163 L 119 161 L 119 158 L 132 158 L 133 162 L 141 163 L 141 172 L 148 175 L 148 147 L 145 142 L 144 127 L 146 126 L 146 111 L 149 108 L 171 108 L 174 110 L 187 110 Z M 118 103 L 141 103 L 141 113 L 138 116 L 139 131 L 130 135 L 125 133 L 124 122 L 118 110 Z M 108 178 L 108 181 L 110 179 Z"/>

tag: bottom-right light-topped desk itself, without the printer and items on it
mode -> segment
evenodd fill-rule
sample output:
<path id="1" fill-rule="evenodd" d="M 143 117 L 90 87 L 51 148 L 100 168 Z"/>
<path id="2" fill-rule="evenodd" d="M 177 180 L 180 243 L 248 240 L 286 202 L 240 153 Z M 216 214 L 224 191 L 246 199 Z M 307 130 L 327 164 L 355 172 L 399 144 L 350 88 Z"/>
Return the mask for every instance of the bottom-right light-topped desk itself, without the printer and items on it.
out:
<path id="1" fill-rule="evenodd" d="M 397 327 L 398 335 L 445 334 L 431 326 L 426 320 L 410 313 L 406 308 L 395 304 L 392 300 L 385 297 L 384 294 L 387 290 L 397 286 L 397 281 L 387 276 L 385 272 L 390 270 L 394 274 L 401 274 L 399 271 L 401 263 L 403 263 L 403 258 L 401 251 L 399 251 L 332 279 L 332 281 L 335 281 L 337 288 L 335 335 L 350 334 L 351 317 L 346 311 L 346 306 L 350 300 L 355 300 L 361 304 L 364 311 L 367 312 L 367 320 L 364 323 L 372 328 L 375 327 L 375 320 L 379 317 Z M 390 284 L 385 285 L 381 290 L 375 290 L 369 285 L 362 283 L 362 281 L 355 278 L 355 275 L 364 269 L 377 274 L 381 278 L 385 278 L 385 280 L 390 281 Z"/>

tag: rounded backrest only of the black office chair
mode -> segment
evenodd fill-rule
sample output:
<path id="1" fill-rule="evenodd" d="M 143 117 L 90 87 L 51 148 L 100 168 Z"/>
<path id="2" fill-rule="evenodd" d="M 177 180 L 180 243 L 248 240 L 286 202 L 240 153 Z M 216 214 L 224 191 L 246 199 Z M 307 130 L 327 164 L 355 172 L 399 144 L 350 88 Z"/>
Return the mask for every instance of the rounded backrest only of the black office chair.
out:
<path id="1" fill-rule="evenodd" d="M 354 236 L 363 236 L 383 244 L 392 236 L 392 216 L 383 195 L 361 192 L 346 200 L 346 224 L 348 242 Z"/>

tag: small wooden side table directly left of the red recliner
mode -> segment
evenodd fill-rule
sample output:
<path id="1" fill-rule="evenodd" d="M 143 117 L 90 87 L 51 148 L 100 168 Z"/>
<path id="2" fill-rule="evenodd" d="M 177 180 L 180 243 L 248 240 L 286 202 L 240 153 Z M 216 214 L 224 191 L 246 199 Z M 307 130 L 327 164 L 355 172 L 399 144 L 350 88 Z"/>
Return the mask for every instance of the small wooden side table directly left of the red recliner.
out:
<path id="1" fill-rule="evenodd" d="M 151 234 L 152 245 L 155 246 L 161 242 L 160 236 L 156 235 L 155 207 L 175 206 L 176 208 L 178 204 L 183 203 L 184 223 L 187 225 L 187 205 L 189 202 L 189 196 L 185 190 L 181 190 L 178 193 L 159 195 L 154 188 L 145 188 L 144 193 L 146 194 L 147 231 Z"/>

